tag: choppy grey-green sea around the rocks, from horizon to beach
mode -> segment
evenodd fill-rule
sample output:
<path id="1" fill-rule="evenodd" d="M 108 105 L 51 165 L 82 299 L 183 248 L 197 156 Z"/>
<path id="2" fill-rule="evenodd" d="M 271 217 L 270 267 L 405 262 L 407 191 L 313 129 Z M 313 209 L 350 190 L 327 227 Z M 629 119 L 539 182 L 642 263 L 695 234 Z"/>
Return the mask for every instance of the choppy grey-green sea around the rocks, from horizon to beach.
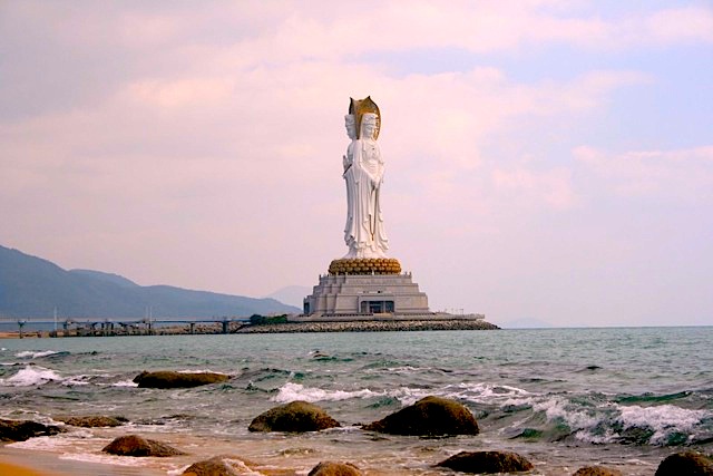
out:
<path id="1" fill-rule="evenodd" d="M 180 474 L 234 455 L 256 473 L 306 475 L 344 460 L 372 475 L 447 475 L 461 450 L 504 449 L 533 474 L 606 465 L 653 475 L 667 455 L 713 453 L 713 327 L 300 334 L 146 336 L 0 341 L 0 418 L 52 422 L 123 416 L 117 428 L 74 429 L 10 448 L 90 462 L 105 474 Z M 143 389 L 143 370 L 217 371 L 193 389 Z M 360 429 L 436 395 L 465 404 L 480 435 L 419 438 Z M 324 408 L 341 428 L 252 434 L 251 420 L 292 400 Z M 104 455 L 137 433 L 191 455 Z"/>

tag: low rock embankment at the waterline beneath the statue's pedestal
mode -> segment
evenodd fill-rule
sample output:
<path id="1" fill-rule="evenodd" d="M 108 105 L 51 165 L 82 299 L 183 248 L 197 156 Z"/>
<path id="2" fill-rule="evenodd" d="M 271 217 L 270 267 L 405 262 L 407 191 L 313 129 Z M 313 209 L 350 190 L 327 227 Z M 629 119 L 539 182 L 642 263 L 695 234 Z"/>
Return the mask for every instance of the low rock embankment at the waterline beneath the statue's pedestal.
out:
<path id="1" fill-rule="evenodd" d="M 343 321 L 287 322 L 283 324 L 246 326 L 236 333 L 281 332 L 388 332 L 388 331 L 466 331 L 500 329 L 482 320 L 412 320 L 412 321 Z"/>

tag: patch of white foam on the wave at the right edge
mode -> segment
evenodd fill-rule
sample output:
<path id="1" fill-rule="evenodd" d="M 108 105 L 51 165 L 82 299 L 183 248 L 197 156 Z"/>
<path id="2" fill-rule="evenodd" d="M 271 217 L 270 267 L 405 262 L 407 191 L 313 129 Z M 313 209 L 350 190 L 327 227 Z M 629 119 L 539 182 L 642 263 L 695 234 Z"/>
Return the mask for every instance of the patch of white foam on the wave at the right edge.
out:
<path id="1" fill-rule="evenodd" d="M 651 444 L 665 443 L 667 435 L 674 431 L 691 433 L 693 428 L 710 411 L 687 410 L 673 405 L 661 405 L 657 407 L 617 406 L 621 416 L 618 420 L 625 428 L 651 428 L 654 434 Z"/>

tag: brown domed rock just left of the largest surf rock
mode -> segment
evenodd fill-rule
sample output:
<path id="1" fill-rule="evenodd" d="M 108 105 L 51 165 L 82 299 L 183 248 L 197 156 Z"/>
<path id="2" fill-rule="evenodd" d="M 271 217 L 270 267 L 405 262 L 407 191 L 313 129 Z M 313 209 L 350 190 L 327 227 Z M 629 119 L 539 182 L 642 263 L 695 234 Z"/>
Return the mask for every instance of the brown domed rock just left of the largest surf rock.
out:
<path id="1" fill-rule="evenodd" d="M 250 431 L 303 433 L 339 426 L 339 421 L 316 405 L 296 400 L 258 415 L 247 429 Z"/>

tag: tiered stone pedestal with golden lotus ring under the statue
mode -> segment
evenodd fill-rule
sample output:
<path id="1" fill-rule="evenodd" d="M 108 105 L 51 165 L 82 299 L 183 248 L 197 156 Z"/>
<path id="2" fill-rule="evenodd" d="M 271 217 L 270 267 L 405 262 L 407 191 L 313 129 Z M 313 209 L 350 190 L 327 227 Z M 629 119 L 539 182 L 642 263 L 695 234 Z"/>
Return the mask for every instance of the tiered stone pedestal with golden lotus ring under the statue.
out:
<path id="1" fill-rule="evenodd" d="M 304 299 L 304 315 L 431 314 L 428 297 L 393 258 L 340 259 Z"/>

